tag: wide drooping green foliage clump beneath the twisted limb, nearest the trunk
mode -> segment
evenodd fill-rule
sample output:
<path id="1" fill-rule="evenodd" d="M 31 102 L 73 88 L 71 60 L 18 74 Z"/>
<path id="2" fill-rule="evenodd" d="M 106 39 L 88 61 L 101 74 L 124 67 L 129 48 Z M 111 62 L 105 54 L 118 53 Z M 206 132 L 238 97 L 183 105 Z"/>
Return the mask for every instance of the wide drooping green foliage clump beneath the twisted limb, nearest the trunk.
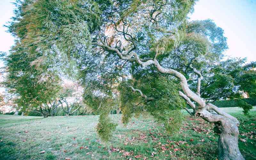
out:
<path id="1" fill-rule="evenodd" d="M 139 115 L 147 112 L 154 116 L 158 123 L 164 124 L 168 133 L 178 132 L 182 125 L 183 115 L 180 109 L 185 106 L 185 101 L 179 96 L 179 85 L 168 80 L 167 77 L 147 75 L 141 79 L 129 82 L 134 88 L 140 89 L 144 94 L 151 95 L 155 100 L 145 101 L 138 92 L 131 92 L 127 84 L 119 87 L 121 93 L 122 123 L 127 124 L 132 113 Z"/>

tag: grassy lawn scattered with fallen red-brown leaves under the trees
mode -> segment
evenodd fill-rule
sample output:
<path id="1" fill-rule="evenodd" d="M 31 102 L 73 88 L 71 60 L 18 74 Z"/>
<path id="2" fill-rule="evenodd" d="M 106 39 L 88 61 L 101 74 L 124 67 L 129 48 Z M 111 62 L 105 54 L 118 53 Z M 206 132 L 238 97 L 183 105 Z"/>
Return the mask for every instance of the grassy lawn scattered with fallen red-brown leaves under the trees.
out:
<path id="1" fill-rule="evenodd" d="M 256 159 L 256 107 L 250 117 L 241 108 L 222 109 L 241 123 L 239 148 L 245 159 Z M 118 127 L 104 144 L 95 133 L 98 116 L 0 115 L 0 159 L 217 159 L 218 135 L 200 118 L 186 115 L 180 133 L 169 136 L 150 117 L 132 119 L 127 127 L 120 117 L 114 115 Z"/>

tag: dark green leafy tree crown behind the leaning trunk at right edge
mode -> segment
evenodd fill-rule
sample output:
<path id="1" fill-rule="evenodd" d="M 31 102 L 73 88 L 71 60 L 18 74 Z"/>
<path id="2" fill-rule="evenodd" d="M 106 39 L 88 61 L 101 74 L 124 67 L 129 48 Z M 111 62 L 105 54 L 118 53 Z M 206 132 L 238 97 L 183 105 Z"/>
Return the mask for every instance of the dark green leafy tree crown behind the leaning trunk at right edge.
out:
<path id="1" fill-rule="evenodd" d="M 243 65 L 246 59 L 228 59 L 210 66 L 202 80 L 201 96 L 218 99 L 240 99 L 247 93 L 250 97 L 256 92 L 256 71 Z M 196 87 L 196 84 L 193 84 Z M 192 86 L 192 85 L 191 85 Z"/>

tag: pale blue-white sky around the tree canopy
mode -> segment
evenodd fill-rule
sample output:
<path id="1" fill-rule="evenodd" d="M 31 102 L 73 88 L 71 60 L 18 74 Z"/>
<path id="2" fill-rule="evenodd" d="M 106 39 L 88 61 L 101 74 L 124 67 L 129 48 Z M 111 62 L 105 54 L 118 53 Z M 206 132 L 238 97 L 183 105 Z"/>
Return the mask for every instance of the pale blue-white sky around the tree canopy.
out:
<path id="1" fill-rule="evenodd" d="M 13 16 L 14 0 L 1 0 L 0 4 L 0 51 L 8 52 L 14 38 L 3 27 Z M 226 51 L 229 57 L 247 57 L 256 61 L 256 0 L 200 0 L 195 5 L 191 20 L 212 19 L 224 29 L 228 38 Z M 0 61 L 0 67 L 3 62 Z"/>

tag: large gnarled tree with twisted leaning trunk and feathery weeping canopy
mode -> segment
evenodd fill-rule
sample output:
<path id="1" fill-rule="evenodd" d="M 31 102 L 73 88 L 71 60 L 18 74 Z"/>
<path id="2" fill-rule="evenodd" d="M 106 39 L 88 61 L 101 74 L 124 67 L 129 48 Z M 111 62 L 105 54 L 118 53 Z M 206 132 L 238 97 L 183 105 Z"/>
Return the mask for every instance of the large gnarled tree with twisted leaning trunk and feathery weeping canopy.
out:
<path id="1" fill-rule="evenodd" d="M 203 97 L 227 97 L 215 96 L 218 85 L 209 89 L 209 94 L 202 86 L 209 87 L 205 75 L 220 64 L 228 46 L 223 30 L 211 20 L 188 22 L 194 3 L 25 0 L 17 3 L 9 32 L 24 39 L 21 43 L 29 50 L 34 48 L 32 53 L 41 53 L 34 56 L 40 61 L 38 65 L 61 65 L 56 60 L 59 57 L 69 62 L 63 63 L 64 68 L 76 64 L 77 78 L 86 91 L 84 101 L 92 108 L 101 108 L 97 132 L 103 140 L 111 138 L 116 126 L 108 119 L 112 105 L 107 104 L 113 98 L 113 85 L 122 77 L 119 92 L 124 123 L 133 112 L 149 112 L 167 131 L 172 127 L 177 131 L 182 120 L 180 109 L 187 109 L 186 102 L 193 109 L 192 113 L 187 109 L 189 114 L 216 125 L 220 159 L 244 159 L 237 144 L 239 121 Z M 223 86 L 230 84 L 232 76 L 217 73 L 221 72 L 213 76 L 215 84 L 225 80 L 228 83 L 220 87 L 223 93 L 230 92 Z M 244 91 L 251 90 L 244 87 Z"/>

